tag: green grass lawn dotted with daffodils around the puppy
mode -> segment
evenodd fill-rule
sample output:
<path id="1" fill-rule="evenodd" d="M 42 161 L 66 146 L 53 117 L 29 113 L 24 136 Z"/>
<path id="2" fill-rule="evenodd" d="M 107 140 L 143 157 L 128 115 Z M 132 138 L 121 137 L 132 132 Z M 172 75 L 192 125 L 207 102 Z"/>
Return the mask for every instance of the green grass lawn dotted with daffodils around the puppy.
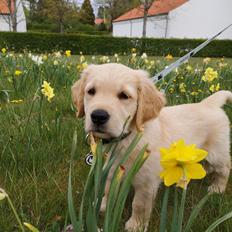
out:
<path id="1" fill-rule="evenodd" d="M 23 222 L 41 231 L 58 232 L 70 222 L 67 207 L 67 185 L 72 137 L 78 131 L 74 160 L 73 188 L 78 209 L 89 166 L 85 155 L 83 121 L 75 117 L 70 87 L 89 63 L 121 62 L 132 68 L 147 70 L 151 75 L 173 62 L 172 57 L 40 56 L 0 53 L 0 187 L 5 189 Z M 158 87 L 166 92 L 168 105 L 198 102 L 218 89 L 232 90 L 232 60 L 193 58 L 174 70 Z M 217 77 L 203 81 L 207 68 Z M 55 96 L 51 102 L 41 93 L 43 81 L 50 82 Z M 224 107 L 232 121 L 231 105 Z M 74 157 L 75 158 L 75 157 Z M 186 216 L 206 194 L 210 177 L 189 186 Z M 149 232 L 158 231 L 163 188 L 160 188 L 150 221 Z M 130 200 L 130 199 L 129 199 Z M 170 206 L 172 202 L 169 202 Z M 193 231 L 204 231 L 216 218 L 232 209 L 232 179 L 226 193 L 214 195 L 203 209 Z M 19 231 L 17 221 L 6 201 L 0 202 L 0 232 Z M 125 210 L 124 221 L 129 215 Z M 216 231 L 229 232 L 232 221 Z"/>

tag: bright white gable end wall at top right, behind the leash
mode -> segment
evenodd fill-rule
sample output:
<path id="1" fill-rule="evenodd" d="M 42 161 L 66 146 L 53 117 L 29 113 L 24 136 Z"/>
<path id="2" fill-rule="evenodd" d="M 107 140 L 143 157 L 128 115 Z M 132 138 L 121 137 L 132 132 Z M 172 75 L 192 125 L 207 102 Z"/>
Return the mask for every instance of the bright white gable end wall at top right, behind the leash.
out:
<path id="1" fill-rule="evenodd" d="M 169 13 L 169 38 L 209 38 L 232 23 L 232 0 L 190 0 Z M 232 39 L 232 28 L 218 37 Z"/>

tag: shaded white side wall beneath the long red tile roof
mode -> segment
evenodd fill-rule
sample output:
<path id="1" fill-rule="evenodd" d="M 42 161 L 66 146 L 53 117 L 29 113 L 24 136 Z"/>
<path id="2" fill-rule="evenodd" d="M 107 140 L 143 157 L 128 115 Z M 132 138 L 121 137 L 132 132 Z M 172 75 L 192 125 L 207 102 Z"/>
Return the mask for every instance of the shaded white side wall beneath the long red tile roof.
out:
<path id="1" fill-rule="evenodd" d="M 165 37 L 166 16 L 147 18 L 147 37 Z M 133 19 L 113 23 L 113 36 L 142 37 L 143 19 Z"/>

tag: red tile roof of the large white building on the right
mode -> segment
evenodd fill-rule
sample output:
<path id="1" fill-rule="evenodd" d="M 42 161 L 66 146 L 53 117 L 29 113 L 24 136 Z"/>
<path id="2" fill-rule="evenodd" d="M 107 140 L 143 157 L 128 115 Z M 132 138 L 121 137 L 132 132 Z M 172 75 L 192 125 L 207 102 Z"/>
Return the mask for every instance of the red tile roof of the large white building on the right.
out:
<path id="1" fill-rule="evenodd" d="M 156 0 L 148 10 L 148 16 L 167 14 L 169 11 L 183 5 L 188 0 Z M 143 4 L 121 15 L 114 22 L 142 18 L 144 16 Z"/>

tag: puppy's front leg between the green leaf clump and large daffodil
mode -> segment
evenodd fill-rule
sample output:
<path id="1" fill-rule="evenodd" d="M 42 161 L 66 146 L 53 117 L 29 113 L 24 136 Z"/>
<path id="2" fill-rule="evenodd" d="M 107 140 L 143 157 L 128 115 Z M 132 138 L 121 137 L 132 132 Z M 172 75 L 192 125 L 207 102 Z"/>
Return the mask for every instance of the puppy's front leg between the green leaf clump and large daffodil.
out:
<path id="1" fill-rule="evenodd" d="M 135 185 L 135 196 L 132 203 L 132 215 L 127 221 L 125 229 L 127 231 L 147 231 L 153 200 L 159 188 L 160 179 L 157 178 L 143 185 Z"/>

